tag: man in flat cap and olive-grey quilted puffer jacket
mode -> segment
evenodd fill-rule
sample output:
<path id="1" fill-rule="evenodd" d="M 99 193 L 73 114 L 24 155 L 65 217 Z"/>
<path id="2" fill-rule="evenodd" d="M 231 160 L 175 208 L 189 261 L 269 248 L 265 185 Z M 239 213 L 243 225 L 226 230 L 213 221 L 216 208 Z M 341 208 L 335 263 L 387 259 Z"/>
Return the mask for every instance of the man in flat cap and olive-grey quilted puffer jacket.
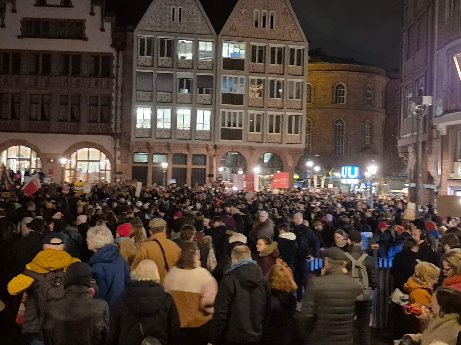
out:
<path id="1" fill-rule="evenodd" d="M 352 345 L 357 279 L 345 275 L 347 257 L 340 248 L 322 252 L 322 276 L 308 284 L 302 301 L 299 329 L 304 344 Z"/>

